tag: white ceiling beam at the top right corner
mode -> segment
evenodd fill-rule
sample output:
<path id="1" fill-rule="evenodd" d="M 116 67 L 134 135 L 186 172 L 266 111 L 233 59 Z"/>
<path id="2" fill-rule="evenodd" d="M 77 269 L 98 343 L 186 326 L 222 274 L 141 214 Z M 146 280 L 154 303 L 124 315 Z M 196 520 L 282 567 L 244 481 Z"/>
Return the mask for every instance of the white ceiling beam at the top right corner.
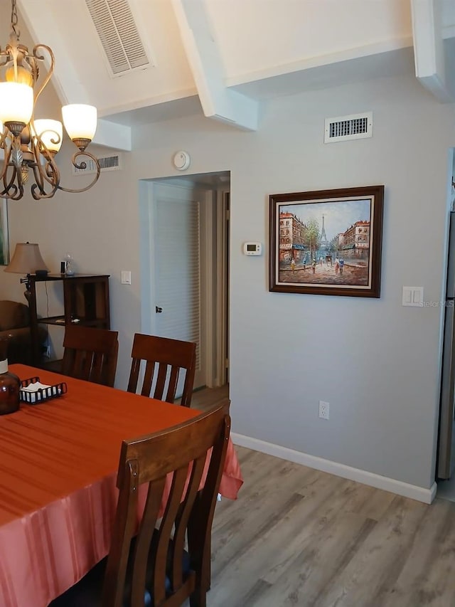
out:
<path id="1" fill-rule="evenodd" d="M 454 70 L 448 69 L 444 52 L 441 3 L 439 0 L 411 0 L 415 75 L 439 101 L 455 100 Z"/>

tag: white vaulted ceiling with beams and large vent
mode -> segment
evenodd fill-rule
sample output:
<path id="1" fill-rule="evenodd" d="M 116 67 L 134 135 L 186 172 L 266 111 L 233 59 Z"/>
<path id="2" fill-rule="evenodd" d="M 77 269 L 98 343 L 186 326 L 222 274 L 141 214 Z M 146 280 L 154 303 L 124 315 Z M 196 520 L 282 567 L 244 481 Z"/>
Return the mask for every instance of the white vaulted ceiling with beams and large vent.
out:
<path id="1" fill-rule="evenodd" d="M 125 127 L 198 113 L 256 130 L 269 97 L 416 70 L 441 101 L 455 99 L 454 0 L 18 0 L 18 8 L 31 40 L 53 48 L 60 101 L 96 105 L 119 140 Z M 2 47 L 10 12 L 0 0 Z"/>

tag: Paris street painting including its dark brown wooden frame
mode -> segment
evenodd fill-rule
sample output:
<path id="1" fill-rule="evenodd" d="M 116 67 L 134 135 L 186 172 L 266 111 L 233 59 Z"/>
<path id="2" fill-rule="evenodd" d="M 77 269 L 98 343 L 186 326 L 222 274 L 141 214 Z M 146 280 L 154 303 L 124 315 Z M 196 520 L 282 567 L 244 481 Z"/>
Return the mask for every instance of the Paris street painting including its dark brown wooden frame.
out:
<path id="1" fill-rule="evenodd" d="M 269 196 L 269 291 L 380 297 L 384 186 Z"/>

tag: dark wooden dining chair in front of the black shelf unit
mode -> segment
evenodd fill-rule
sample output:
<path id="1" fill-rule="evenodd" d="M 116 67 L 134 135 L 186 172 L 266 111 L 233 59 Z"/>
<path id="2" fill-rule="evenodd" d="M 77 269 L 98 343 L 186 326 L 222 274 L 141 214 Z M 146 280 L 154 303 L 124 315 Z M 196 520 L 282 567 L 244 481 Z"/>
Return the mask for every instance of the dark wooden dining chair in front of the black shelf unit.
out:
<path id="1" fill-rule="evenodd" d="M 95 384 L 114 386 L 118 331 L 69 324 L 63 339 L 62 373 Z"/>

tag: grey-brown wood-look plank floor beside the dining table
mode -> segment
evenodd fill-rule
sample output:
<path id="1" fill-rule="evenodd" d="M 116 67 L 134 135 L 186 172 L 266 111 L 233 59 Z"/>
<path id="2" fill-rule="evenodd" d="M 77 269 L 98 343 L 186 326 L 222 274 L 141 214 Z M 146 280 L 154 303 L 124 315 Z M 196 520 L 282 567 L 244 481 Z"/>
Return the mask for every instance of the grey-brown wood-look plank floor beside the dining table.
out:
<path id="1" fill-rule="evenodd" d="M 215 510 L 209 607 L 455 606 L 454 502 L 236 449 L 245 484 Z"/>

